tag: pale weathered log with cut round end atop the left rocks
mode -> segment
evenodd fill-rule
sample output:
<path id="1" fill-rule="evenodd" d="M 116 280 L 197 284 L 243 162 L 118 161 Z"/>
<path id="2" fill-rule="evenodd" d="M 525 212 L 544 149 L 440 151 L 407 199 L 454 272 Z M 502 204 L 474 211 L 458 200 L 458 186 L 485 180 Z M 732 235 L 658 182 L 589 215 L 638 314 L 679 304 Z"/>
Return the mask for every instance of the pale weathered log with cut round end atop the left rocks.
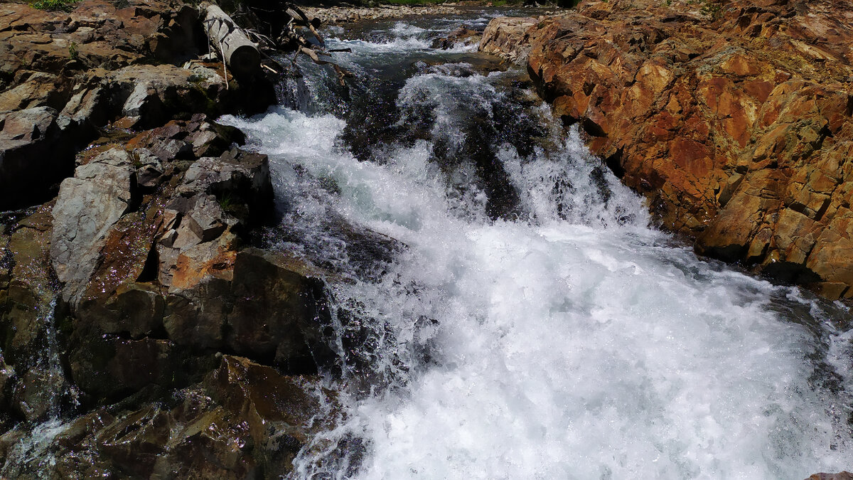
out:
<path id="1" fill-rule="evenodd" d="M 235 76 L 251 76 L 261 68 L 258 45 L 217 5 L 207 4 L 204 27 L 211 44 Z"/>

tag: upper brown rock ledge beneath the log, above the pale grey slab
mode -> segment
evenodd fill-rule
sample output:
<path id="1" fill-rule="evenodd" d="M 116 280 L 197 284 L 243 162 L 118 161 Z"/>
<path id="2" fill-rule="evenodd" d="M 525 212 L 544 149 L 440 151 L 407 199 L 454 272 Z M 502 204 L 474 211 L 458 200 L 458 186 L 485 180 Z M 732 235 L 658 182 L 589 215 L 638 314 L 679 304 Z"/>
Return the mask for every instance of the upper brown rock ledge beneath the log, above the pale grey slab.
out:
<path id="1" fill-rule="evenodd" d="M 70 13 L 0 3 L 0 42 L 0 211 L 55 196 L 107 122 L 144 129 L 275 101 L 267 79 L 226 81 L 198 59 L 198 12 L 177 1 L 85 0 Z"/>

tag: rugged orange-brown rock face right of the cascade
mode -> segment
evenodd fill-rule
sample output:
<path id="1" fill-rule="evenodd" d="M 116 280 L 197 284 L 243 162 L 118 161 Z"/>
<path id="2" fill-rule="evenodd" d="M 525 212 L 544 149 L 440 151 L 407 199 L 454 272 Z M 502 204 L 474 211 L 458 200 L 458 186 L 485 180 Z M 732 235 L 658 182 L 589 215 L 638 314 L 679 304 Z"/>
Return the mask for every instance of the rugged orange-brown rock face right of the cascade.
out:
<path id="1" fill-rule="evenodd" d="M 853 2 L 586 1 L 480 46 L 700 254 L 853 296 Z"/>

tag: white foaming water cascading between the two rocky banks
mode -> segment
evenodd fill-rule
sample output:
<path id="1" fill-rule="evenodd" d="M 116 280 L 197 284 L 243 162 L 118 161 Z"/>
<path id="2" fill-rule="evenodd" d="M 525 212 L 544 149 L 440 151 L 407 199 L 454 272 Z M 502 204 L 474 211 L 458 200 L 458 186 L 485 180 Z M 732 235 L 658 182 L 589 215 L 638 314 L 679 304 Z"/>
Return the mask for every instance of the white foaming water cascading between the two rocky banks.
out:
<path id="1" fill-rule="evenodd" d="M 268 241 L 339 273 L 345 413 L 305 478 L 804 478 L 853 467 L 845 307 L 649 226 L 518 71 L 432 50 L 459 19 L 328 32 L 240 126 Z M 486 18 L 464 20 L 482 27 Z"/>

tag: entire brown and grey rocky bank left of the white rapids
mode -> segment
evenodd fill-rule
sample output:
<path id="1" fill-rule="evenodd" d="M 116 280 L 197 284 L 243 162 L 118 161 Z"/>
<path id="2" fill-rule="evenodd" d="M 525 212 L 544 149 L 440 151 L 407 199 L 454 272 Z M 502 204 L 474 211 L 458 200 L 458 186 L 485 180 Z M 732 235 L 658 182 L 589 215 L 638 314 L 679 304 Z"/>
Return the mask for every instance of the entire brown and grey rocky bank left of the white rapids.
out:
<path id="1" fill-rule="evenodd" d="M 118 6 L 117 6 L 118 5 Z M 194 7 L 0 4 L 0 477 L 264 477 L 331 418 L 323 273 L 253 248 L 264 155 Z"/>

